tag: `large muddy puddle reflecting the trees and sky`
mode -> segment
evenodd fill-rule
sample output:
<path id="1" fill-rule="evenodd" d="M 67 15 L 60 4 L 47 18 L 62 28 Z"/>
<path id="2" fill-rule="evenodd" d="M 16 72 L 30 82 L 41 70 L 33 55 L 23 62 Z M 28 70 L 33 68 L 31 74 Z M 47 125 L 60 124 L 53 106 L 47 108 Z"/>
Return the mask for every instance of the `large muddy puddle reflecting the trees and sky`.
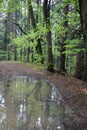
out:
<path id="1" fill-rule="evenodd" d="M 72 126 L 72 119 L 62 98 L 47 81 L 33 77 L 0 81 L 0 130 L 68 130 L 68 124 Z"/>

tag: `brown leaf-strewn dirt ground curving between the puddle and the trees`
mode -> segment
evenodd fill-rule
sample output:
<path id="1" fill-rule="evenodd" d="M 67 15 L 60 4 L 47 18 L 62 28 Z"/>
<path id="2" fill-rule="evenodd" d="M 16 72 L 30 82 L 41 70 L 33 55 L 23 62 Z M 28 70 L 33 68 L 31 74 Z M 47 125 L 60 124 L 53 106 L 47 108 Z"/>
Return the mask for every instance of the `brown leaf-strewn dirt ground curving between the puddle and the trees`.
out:
<path id="1" fill-rule="evenodd" d="M 0 62 L 0 78 L 8 76 L 30 75 L 52 82 L 59 90 L 64 103 L 70 109 L 74 121 L 87 130 L 87 83 L 67 74 L 38 71 L 20 62 Z M 83 130 L 83 129 L 81 129 Z"/>

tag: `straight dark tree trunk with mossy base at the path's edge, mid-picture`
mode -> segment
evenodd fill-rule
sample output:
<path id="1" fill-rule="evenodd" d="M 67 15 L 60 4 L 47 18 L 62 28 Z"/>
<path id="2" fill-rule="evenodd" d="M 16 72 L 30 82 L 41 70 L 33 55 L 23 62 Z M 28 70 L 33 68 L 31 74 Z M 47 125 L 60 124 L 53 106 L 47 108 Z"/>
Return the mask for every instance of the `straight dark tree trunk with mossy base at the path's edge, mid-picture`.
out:
<path id="1" fill-rule="evenodd" d="M 47 48 L 48 48 L 48 71 L 54 71 L 53 65 L 53 54 L 52 54 L 52 38 L 51 38 L 51 25 L 50 25 L 50 2 L 51 0 L 44 0 L 43 3 L 43 13 L 44 21 L 47 27 L 46 39 L 47 39 Z"/>

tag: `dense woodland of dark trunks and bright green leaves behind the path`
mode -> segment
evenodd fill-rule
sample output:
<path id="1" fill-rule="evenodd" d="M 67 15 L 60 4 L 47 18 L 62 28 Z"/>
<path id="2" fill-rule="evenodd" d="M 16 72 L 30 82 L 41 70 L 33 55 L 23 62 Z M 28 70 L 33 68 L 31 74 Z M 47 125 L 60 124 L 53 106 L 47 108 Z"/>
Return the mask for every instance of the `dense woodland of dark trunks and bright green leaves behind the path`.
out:
<path id="1" fill-rule="evenodd" d="M 87 81 L 87 0 L 1 0 L 0 60 Z"/>

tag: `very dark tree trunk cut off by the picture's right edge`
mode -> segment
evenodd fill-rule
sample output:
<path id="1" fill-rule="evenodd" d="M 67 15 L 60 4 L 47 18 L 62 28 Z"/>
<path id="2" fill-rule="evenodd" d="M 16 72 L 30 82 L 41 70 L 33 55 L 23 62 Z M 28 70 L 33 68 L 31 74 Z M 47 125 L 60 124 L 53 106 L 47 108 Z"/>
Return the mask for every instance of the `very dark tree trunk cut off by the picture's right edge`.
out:
<path id="1" fill-rule="evenodd" d="M 78 1 L 80 7 L 80 17 L 85 44 L 83 80 L 87 81 L 87 0 L 78 0 Z"/>

